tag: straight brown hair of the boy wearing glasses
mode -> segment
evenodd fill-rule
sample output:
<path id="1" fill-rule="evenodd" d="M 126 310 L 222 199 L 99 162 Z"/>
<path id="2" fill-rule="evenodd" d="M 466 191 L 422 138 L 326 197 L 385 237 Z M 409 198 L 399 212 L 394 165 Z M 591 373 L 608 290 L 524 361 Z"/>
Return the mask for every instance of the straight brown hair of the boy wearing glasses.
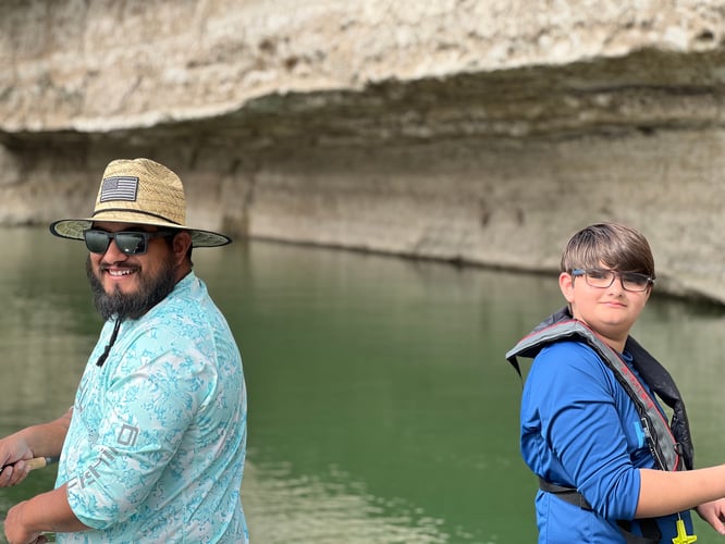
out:
<path id="1" fill-rule="evenodd" d="M 562 272 L 597 269 L 638 272 L 654 280 L 654 257 L 647 238 L 620 223 L 597 223 L 569 239 L 562 255 Z"/>

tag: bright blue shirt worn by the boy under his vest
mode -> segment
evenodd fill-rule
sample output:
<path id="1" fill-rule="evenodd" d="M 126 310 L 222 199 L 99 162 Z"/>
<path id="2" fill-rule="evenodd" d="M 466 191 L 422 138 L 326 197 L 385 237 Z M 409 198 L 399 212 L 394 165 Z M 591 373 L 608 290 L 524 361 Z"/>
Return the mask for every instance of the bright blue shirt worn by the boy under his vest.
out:
<path id="1" fill-rule="evenodd" d="M 524 386 L 520 422 L 521 454 L 529 468 L 551 483 L 576 487 L 594 510 L 539 491 L 539 542 L 624 542 L 616 520 L 632 520 L 638 469 L 656 465 L 635 404 L 604 361 L 579 342 L 543 348 Z M 691 534 L 689 511 L 681 518 Z M 677 535 L 676 519 L 658 518 L 661 542 Z M 639 532 L 637 521 L 632 531 Z"/>

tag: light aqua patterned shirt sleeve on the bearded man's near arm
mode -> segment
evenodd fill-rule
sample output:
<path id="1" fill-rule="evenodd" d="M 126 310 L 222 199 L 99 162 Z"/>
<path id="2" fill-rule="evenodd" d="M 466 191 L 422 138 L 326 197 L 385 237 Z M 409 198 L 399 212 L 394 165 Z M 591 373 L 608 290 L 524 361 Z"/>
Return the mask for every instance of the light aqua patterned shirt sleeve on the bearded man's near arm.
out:
<path id="1" fill-rule="evenodd" d="M 160 350 L 159 346 L 164 346 Z M 79 454 L 69 503 L 95 529 L 126 520 L 149 494 L 213 388 L 214 373 L 183 338 L 139 336 L 101 403 L 97 440 Z"/>

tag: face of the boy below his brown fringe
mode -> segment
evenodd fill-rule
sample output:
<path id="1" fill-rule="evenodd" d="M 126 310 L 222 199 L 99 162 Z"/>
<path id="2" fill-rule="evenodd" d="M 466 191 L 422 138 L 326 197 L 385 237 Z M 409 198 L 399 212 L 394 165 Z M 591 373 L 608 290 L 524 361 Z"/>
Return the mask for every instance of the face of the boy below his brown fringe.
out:
<path id="1" fill-rule="evenodd" d="M 592 287 L 585 276 L 573 277 L 567 272 L 560 274 L 558 286 L 574 318 L 603 336 L 618 351 L 624 349 L 629 331 L 652 292 L 651 287 L 638 293 L 625 290 L 618 275 L 609 287 Z"/>

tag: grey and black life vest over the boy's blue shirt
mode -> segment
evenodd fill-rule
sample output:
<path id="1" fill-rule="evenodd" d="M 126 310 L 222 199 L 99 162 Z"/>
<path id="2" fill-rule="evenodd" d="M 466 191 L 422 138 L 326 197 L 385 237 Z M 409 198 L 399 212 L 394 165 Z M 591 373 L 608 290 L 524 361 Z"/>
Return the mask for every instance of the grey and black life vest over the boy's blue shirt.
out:
<path id="1" fill-rule="evenodd" d="M 635 338 L 629 336 L 625 351 L 629 353 L 632 366 L 639 375 L 672 410 L 673 417 L 667 423 L 665 415 L 649 395 L 634 372 L 619 355 L 606 345 L 591 329 L 572 317 L 567 307 L 550 316 L 529 335 L 525 336 L 506 354 L 506 360 L 521 370 L 518 357 L 533 358 L 546 345 L 562 339 L 578 339 L 590 346 L 612 370 L 627 395 L 635 403 L 642 423 L 648 445 L 661 470 L 691 470 L 693 460 L 692 438 L 685 404 L 672 375 Z"/>

